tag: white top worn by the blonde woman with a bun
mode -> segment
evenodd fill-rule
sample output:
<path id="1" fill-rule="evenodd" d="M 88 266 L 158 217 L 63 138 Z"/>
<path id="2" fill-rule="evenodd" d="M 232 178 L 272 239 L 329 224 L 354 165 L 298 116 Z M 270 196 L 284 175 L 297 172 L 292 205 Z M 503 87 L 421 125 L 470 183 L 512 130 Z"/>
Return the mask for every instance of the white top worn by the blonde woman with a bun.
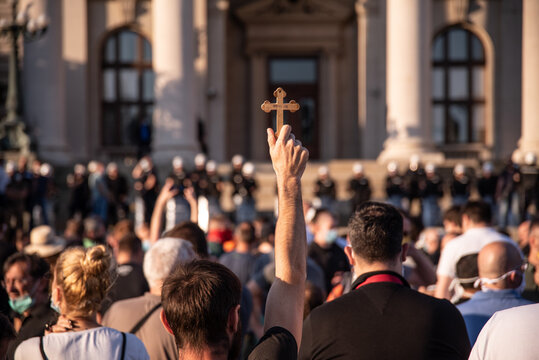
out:
<path id="1" fill-rule="evenodd" d="M 125 334 L 125 360 L 146 360 L 146 348 L 133 334 Z M 43 337 L 43 349 L 49 359 L 120 359 L 122 333 L 98 327 L 83 331 L 49 334 Z M 15 351 L 15 360 L 43 359 L 39 351 L 39 337 L 23 341 Z"/>

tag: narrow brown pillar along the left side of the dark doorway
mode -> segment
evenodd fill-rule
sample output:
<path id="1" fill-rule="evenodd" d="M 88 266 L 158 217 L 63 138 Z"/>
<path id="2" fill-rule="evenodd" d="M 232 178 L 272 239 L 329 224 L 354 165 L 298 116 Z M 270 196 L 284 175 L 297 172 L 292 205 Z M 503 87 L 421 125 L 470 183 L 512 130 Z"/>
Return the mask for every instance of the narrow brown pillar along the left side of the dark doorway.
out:
<path id="1" fill-rule="evenodd" d="M 264 100 L 268 100 L 268 83 L 265 76 L 266 56 L 260 53 L 251 54 L 251 160 L 267 160 L 268 149 L 266 145 L 261 145 L 258 139 L 265 139 L 267 114 L 260 109 Z M 269 98 L 270 101 L 275 100 Z M 273 115 L 272 115 L 273 116 Z M 243 141 L 243 139 L 241 140 Z"/>

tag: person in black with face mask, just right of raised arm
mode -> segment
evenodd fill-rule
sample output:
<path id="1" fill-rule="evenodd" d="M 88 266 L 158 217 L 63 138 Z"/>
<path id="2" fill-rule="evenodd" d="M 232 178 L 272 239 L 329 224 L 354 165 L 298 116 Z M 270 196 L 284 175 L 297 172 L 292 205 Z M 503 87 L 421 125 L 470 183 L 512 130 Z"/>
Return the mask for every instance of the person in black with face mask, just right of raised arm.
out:
<path id="1" fill-rule="evenodd" d="M 340 274 L 350 271 L 348 259 L 343 249 L 336 243 L 338 234 L 335 225 L 335 218 L 328 210 L 318 210 L 311 226 L 314 240 L 307 250 L 308 256 L 324 271 L 326 293 L 331 290 L 332 285 L 339 282 Z"/>

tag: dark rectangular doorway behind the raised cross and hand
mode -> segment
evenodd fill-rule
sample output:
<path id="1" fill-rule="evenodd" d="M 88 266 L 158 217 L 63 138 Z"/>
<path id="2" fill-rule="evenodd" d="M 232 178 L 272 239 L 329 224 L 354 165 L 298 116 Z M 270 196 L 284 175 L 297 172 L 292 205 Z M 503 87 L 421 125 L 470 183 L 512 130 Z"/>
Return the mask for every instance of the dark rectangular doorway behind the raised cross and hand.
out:
<path id="1" fill-rule="evenodd" d="M 319 158 L 318 132 L 318 58 L 271 57 L 268 59 L 268 99 L 275 102 L 278 87 L 286 91 L 285 102 L 295 100 L 300 110 L 284 112 L 285 124 L 309 150 L 311 159 Z M 275 128 L 275 111 L 268 115 L 268 126 Z"/>

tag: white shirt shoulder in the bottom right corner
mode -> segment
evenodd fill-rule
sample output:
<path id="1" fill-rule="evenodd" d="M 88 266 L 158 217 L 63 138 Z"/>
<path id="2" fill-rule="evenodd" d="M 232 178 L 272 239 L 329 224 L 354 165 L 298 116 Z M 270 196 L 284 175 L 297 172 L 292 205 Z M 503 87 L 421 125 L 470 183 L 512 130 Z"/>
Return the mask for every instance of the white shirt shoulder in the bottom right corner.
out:
<path id="1" fill-rule="evenodd" d="M 538 317 L 539 304 L 498 311 L 479 333 L 469 359 L 537 359 Z"/>

